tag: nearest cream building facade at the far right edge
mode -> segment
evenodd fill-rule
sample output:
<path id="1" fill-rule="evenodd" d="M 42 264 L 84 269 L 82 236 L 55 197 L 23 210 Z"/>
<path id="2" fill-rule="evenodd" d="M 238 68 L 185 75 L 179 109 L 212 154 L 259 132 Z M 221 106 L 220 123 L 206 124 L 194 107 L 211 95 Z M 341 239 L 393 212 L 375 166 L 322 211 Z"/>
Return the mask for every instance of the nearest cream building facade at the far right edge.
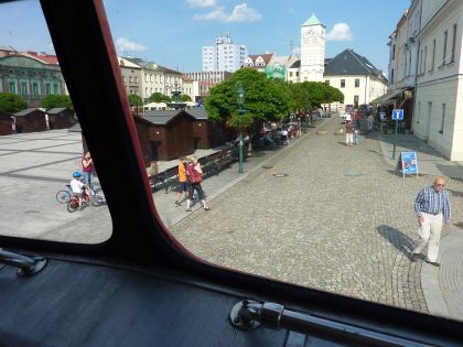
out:
<path id="1" fill-rule="evenodd" d="M 414 134 L 452 161 L 463 160 L 463 2 L 422 1 Z"/>

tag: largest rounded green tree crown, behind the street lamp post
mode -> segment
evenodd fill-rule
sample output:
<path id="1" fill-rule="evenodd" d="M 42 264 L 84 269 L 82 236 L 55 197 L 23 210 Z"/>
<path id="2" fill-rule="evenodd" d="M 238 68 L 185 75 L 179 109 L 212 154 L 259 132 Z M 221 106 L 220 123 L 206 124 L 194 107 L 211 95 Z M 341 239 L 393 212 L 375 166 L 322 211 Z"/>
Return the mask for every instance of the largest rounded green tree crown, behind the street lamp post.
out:
<path id="1" fill-rule="evenodd" d="M 252 68 L 243 68 L 230 78 L 211 88 L 204 106 L 211 120 L 240 124 L 238 115 L 237 89 L 245 90 L 243 123 L 251 124 L 257 120 L 281 119 L 290 111 L 288 87 L 280 82 L 270 80 L 265 74 Z M 283 86 L 284 85 L 284 86 Z"/>

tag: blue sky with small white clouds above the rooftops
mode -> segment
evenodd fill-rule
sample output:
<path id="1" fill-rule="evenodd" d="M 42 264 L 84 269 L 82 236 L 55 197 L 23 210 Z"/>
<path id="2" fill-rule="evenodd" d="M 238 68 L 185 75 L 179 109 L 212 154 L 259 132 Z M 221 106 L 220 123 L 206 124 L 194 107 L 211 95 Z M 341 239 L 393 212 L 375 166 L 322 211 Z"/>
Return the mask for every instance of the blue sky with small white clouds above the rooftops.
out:
<path id="1" fill-rule="evenodd" d="M 201 71 L 202 47 L 228 32 L 249 54 L 278 55 L 300 45 L 300 25 L 314 12 L 326 26 L 326 57 L 345 48 L 387 71 L 389 34 L 410 0 L 105 0 L 120 54 L 182 72 Z M 0 45 L 53 53 L 39 1 L 0 6 Z M 18 23 L 21 23 L 19 25 Z"/>

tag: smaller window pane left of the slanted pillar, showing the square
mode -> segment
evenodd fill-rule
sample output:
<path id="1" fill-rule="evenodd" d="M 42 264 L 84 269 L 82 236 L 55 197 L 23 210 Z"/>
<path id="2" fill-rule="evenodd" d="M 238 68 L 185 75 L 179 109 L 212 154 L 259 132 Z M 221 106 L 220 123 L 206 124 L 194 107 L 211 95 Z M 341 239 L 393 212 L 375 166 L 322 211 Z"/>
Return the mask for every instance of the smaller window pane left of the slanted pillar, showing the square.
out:
<path id="1" fill-rule="evenodd" d="M 73 173 L 80 175 L 76 191 L 86 176 L 86 144 L 67 88 L 60 88 L 66 83 L 40 2 L 0 4 L 0 84 L 8 91 L 0 96 L 0 215 L 8 216 L 0 220 L 0 234 L 77 243 L 107 240 L 111 223 L 96 172 L 90 182 L 96 195 L 89 194 L 83 209 L 76 200 L 68 210 Z M 11 116 L 13 123 L 6 121 Z"/>

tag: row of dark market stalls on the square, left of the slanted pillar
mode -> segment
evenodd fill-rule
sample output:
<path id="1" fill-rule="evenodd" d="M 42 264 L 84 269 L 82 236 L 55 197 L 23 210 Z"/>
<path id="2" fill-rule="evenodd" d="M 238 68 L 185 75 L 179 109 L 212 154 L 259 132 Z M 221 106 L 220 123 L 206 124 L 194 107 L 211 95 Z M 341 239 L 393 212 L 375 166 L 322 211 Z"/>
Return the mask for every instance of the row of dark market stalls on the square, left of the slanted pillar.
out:
<path id="1" fill-rule="evenodd" d="M 75 123 L 74 112 L 68 108 L 53 108 L 47 111 L 28 108 L 15 113 L 0 112 L 0 135 L 67 129 Z"/>

